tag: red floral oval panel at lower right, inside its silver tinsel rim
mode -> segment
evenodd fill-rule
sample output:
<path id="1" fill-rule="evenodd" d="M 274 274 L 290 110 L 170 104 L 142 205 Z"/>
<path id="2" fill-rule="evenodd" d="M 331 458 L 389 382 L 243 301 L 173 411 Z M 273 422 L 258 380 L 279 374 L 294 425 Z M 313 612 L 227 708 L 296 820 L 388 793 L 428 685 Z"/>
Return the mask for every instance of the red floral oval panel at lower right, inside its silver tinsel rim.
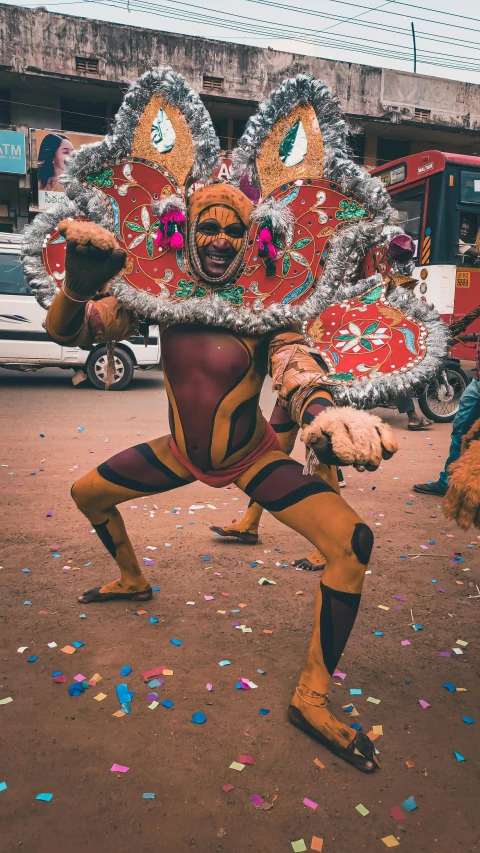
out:
<path id="1" fill-rule="evenodd" d="M 327 381 L 356 383 L 375 373 L 406 373 L 425 357 L 427 329 L 390 305 L 385 284 L 337 302 L 307 324 L 328 366 Z"/>

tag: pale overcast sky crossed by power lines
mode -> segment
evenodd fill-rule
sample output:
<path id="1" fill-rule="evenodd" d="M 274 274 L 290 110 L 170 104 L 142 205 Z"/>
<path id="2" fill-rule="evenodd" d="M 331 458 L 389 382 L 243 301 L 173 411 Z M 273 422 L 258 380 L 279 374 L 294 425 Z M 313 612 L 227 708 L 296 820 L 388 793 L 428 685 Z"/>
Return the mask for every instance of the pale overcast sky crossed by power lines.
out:
<path id="1" fill-rule="evenodd" d="M 478 0 L 77 0 L 45 6 L 65 15 L 404 71 L 413 71 L 413 22 L 418 73 L 480 84 Z"/>

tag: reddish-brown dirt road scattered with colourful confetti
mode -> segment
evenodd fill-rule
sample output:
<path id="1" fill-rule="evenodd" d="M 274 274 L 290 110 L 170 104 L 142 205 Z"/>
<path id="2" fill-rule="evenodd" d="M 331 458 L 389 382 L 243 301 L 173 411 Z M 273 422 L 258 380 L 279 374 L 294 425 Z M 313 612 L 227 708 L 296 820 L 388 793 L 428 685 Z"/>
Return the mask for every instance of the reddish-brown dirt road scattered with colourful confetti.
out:
<path id="1" fill-rule="evenodd" d="M 340 664 L 346 676 L 334 679 L 331 700 L 339 715 L 353 703 L 359 715 L 349 722 L 365 732 L 382 727 L 382 769 L 369 777 L 286 719 L 318 575 L 290 566 L 308 546 L 268 515 L 256 547 L 213 538 L 210 524 L 245 509 L 237 489 L 193 484 L 125 505 L 136 551 L 153 561 L 146 573 L 160 590 L 140 616 L 121 603 L 77 603 L 116 571 L 70 486 L 112 453 L 168 431 L 162 374 L 104 393 L 74 389 L 58 372 L 2 372 L 0 393 L 1 853 L 291 853 L 319 850 L 314 836 L 324 853 L 381 853 L 389 837 L 409 853 L 479 849 L 480 599 L 471 596 L 480 539 L 447 524 L 439 500 L 411 491 L 437 475 L 449 427 L 408 433 L 404 417 L 383 413 L 398 428 L 400 452 L 375 474 L 345 470 L 343 495 L 372 525 L 376 544 Z M 261 577 L 275 585 L 260 586 Z M 62 652 L 74 642 L 83 645 Z M 148 687 L 141 673 L 162 666 L 173 674 Z M 75 676 L 96 673 L 96 686 L 69 695 Z M 241 678 L 256 688 L 237 689 Z M 135 696 L 131 714 L 116 717 L 121 683 Z M 191 722 L 196 712 L 205 723 Z M 231 768 L 241 756 L 254 764 Z M 111 772 L 115 763 L 129 770 Z M 36 800 L 40 793 L 53 799 Z M 253 795 L 272 807 L 256 807 Z M 402 803 L 410 797 L 417 808 L 409 812 Z"/>

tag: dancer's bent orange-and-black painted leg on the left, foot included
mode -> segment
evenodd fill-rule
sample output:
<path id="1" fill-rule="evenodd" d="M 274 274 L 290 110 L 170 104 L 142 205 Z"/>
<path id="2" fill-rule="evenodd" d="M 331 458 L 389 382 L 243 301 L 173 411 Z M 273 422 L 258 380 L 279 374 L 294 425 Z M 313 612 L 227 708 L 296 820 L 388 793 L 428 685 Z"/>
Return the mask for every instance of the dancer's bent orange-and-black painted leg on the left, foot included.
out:
<path id="1" fill-rule="evenodd" d="M 89 604 L 122 597 L 146 601 L 152 597 L 117 505 L 166 492 L 193 480 L 173 456 L 170 436 L 164 436 L 117 453 L 74 483 L 73 500 L 120 569 L 119 580 L 88 590 L 79 598 L 80 602 Z"/>

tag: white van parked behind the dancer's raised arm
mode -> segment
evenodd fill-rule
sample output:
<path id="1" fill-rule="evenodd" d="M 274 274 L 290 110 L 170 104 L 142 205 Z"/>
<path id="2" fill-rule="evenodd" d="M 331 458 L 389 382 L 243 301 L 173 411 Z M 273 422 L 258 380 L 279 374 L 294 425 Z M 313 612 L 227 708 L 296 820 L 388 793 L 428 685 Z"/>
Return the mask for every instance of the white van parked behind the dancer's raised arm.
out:
<path id="1" fill-rule="evenodd" d="M 107 350 L 104 344 L 88 349 L 61 346 L 50 340 L 43 327 L 45 310 L 31 294 L 20 263 L 20 234 L 0 234 L 0 367 L 39 370 L 61 367 L 74 370 L 74 384 L 88 378 L 95 388 L 105 388 Z M 133 371 L 151 370 L 160 362 L 160 336 L 151 326 L 148 344 L 141 336 L 120 341 L 115 347 L 115 379 L 110 390 L 123 391 Z"/>

